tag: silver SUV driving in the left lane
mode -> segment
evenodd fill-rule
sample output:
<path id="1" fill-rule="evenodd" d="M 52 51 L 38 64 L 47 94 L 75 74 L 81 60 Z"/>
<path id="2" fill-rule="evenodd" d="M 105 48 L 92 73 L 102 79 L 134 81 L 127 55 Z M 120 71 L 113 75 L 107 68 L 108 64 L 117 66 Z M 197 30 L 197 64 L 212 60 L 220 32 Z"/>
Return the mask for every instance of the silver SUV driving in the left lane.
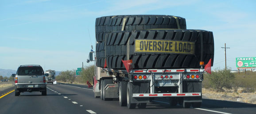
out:
<path id="1" fill-rule="evenodd" d="M 15 81 L 15 96 L 20 92 L 40 91 L 42 95 L 47 95 L 46 76 L 40 65 L 20 65 L 16 74 L 12 74 Z"/>

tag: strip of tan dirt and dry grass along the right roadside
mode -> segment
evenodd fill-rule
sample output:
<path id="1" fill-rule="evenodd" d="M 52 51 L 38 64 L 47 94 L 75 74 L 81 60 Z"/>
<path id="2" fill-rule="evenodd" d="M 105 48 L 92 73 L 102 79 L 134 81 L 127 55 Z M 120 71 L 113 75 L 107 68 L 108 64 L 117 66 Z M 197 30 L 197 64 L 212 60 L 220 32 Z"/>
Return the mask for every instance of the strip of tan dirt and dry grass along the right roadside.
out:
<path id="1" fill-rule="evenodd" d="M 202 98 L 256 104 L 256 92 L 243 93 L 240 92 L 240 89 L 237 91 L 216 92 L 212 89 L 202 88 Z"/>

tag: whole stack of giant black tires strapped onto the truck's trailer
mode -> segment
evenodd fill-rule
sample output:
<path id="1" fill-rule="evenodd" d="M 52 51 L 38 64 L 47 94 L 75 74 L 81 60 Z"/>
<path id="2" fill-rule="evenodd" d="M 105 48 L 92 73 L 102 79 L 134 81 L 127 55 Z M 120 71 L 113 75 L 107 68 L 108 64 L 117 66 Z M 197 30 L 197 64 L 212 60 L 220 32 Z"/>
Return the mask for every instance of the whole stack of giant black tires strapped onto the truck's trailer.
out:
<path id="1" fill-rule="evenodd" d="M 95 28 L 98 67 L 104 67 L 106 61 L 107 68 L 125 69 L 121 60 L 132 60 L 132 66 L 135 69 L 200 68 L 199 62 L 207 63 L 210 58 L 212 58 L 213 65 L 213 33 L 206 30 L 186 30 L 186 20 L 181 17 L 170 15 L 105 16 L 96 19 Z M 194 54 L 137 53 L 135 52 L 135 40 L 138 39 L 194 42 Z"/>

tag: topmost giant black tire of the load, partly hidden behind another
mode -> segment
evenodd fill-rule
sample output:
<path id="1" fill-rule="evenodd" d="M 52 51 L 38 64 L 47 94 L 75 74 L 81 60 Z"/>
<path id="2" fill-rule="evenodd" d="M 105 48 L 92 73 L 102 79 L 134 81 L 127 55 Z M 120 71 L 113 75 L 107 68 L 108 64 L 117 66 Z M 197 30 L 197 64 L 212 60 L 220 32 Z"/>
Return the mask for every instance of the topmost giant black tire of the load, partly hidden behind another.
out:
<path id="1" fill-rule="evenodd" d="M 97 18 L 95 23 L 97 42 L 105 41 L 109 32 L 147 29 L 186 29 L 186 19 L 171 15 L 114 15 Z"/>

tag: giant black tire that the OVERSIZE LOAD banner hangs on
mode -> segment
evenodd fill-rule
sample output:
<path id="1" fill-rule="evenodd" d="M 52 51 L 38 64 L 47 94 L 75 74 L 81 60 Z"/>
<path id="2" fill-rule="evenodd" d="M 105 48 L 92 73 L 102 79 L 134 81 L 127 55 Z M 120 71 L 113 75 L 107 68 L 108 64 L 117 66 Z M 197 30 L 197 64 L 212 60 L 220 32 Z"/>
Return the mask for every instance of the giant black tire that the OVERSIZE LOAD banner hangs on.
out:
<path id="1" fill-rule="evenodd" d="M 136 53 L 136 39 L 194 42 L 194 53 Z M 121 60 L 127 60 L 128 44 L 130 47 L 128 59 L 132 60 L 133 68 L 200 68 L 200 61 L 208 63 L 210 58 L 213 65 L 213 33 L 206 30 L 134 30 L 109 33 L 105 40 L 108 68 L 125 69 Z"/>

